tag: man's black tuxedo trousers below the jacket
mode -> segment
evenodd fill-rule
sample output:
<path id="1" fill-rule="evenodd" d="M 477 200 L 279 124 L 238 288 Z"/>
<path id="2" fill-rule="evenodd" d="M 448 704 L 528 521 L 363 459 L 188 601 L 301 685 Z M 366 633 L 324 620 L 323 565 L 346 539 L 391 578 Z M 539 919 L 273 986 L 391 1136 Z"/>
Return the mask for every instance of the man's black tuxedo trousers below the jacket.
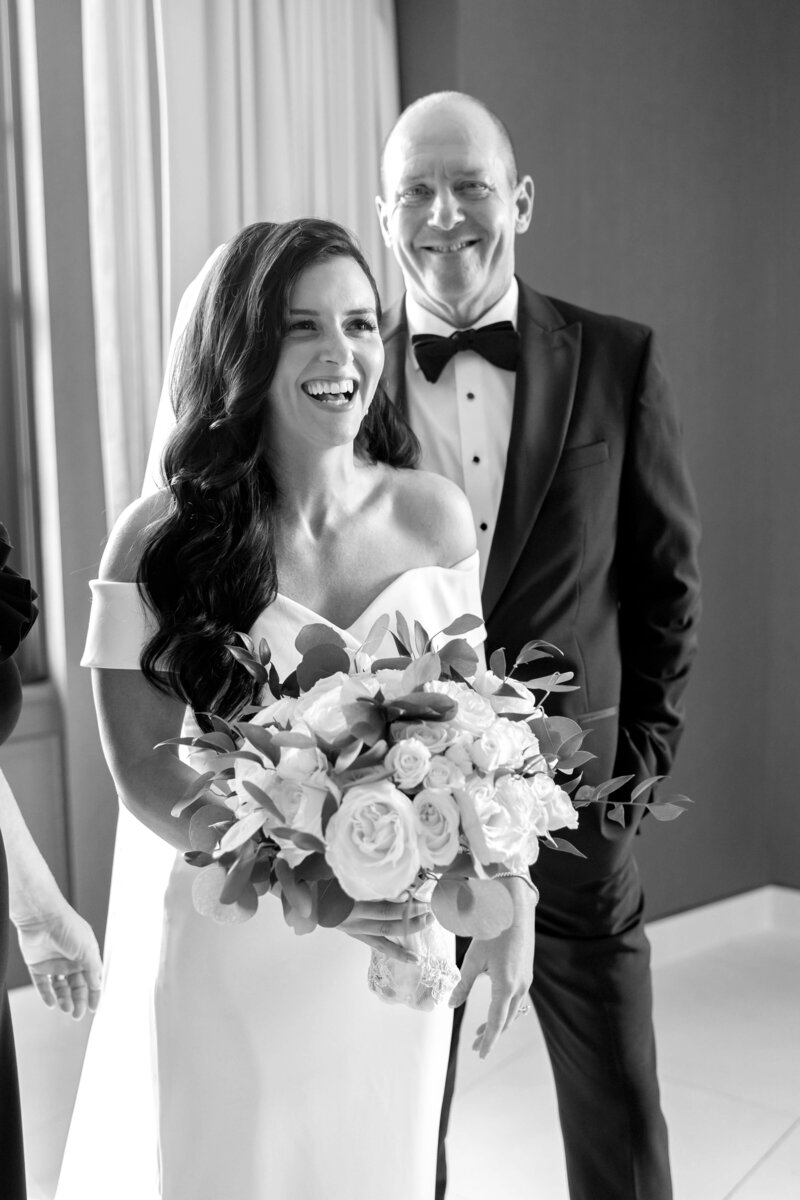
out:
<path id="1" fill-rule="evenodd" d="M 533 871 L 540 901 L 530 995 L 553 1067 L 570 1200 L 672 1200 L 636 862 L 626 853 L 603 876 L 575 878 L 560 864 L 551 874 L 546 854 L 566 857 L 543 848 Z M 461 961 L 469 942 L 459 943 Z M 464 1007 L 455 1015 L 437 1200 L 446 1190 L 445 1136 Z M 539 1196 L 535 1163 L 529 1195 Z"/>

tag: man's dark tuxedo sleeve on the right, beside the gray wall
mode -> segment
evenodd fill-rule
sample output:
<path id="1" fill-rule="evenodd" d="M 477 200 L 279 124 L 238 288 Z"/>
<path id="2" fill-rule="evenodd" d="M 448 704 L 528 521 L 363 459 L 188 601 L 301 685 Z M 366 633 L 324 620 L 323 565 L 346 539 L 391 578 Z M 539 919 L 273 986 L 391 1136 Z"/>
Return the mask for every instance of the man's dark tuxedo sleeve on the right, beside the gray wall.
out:
<path id="1" fill-rule="evenodd" d="M 678 413 L 652 334 L 622 467 L 615 568 L 622 666 L 614 774 L 666 774 L 697 648 L 699 520 Z"/>

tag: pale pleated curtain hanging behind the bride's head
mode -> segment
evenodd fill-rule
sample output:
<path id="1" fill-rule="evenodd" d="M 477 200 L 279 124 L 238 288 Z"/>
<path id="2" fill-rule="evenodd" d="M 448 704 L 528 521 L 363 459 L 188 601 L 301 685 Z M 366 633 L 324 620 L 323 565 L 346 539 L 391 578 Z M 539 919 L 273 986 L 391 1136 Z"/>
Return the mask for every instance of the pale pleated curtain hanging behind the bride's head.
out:
<path id="1" fill-rule="evenodd" d="M 393 0 L 83 0 L 83 19 L 110 523 L 139 494 L 169 330 L 217 245 L 329 217 L 399 293 L 373 206 L 399 89 Z"/>

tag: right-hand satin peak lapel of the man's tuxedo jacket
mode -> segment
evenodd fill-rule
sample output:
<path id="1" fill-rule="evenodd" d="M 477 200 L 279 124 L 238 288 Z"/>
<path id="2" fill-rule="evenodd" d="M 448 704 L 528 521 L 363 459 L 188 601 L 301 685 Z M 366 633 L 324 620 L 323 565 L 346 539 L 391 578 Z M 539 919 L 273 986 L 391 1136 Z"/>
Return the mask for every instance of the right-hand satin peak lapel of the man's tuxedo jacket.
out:
<path id="1" fill-rule="evenodd" d="M 566 437 L 581 361 L 581 325 L 519 283 L 521 355 L 498 523 L 483 581 L 488 619 L 530 536 Z"/>

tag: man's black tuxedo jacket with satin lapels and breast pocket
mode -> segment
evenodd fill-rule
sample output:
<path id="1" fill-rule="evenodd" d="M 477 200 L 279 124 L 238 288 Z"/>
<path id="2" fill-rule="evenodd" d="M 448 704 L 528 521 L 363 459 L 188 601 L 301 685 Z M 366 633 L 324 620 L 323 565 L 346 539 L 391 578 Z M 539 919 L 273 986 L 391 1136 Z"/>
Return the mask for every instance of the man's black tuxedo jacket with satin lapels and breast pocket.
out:
<path id="1" fill-rule="evenodd" d="M 564 652 L 553 667 L 575 671 L 579 691 L 552 697 L 548 709 L 591 727 L 585 749 L 597 760 L 587 780 L 664 774 L 696 649 L 699 524 L 654 335 L 522 281 L 518 329 L 511 439 L 483 586 L 487 653 L 504 647 L 511 664 L 535 637 Z M 386 312 L 381 332 L 384 386 L 405 412 L 404 301 Z M 535 674 L 548 668 L 534 666 Z M 590 811 L 573 840 L 589 839 L 594 874 L 637 822 L 622 830 Z M 599 832 L 600 847 L 589 845 Z"/>

